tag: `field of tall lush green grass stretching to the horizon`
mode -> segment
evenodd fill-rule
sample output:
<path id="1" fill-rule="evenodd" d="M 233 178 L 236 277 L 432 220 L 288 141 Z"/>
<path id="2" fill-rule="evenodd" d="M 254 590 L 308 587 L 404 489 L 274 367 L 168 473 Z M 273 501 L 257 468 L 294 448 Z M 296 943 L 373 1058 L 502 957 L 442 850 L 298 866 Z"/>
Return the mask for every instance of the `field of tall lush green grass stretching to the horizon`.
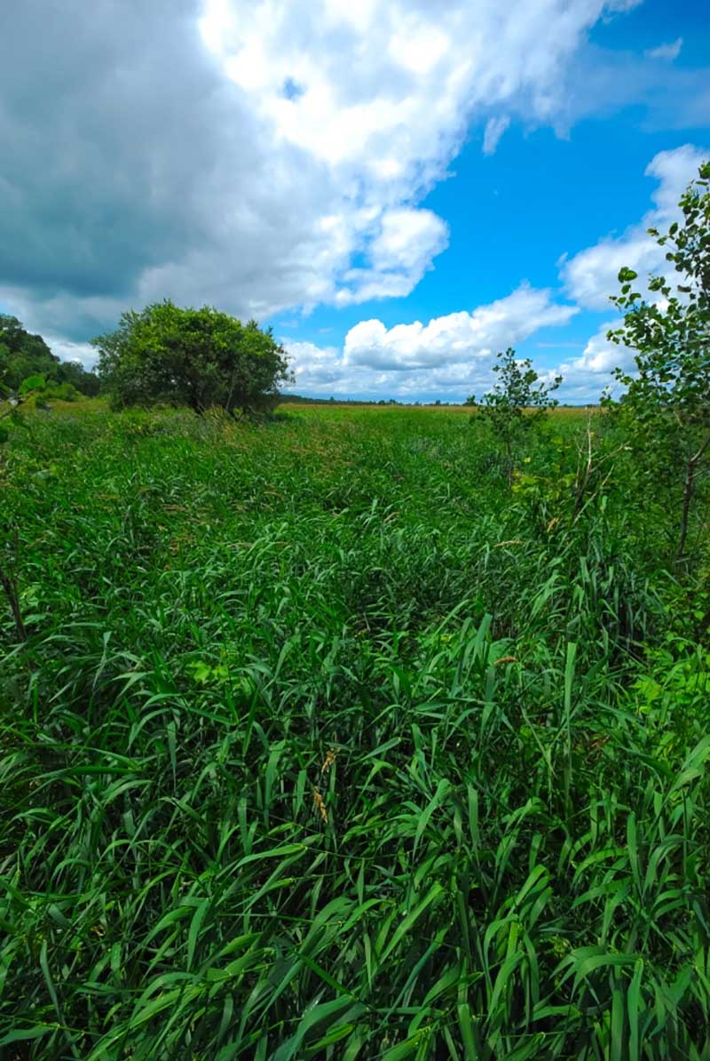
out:
<path id="1" fill-rule="evenodd" d="M 707 575 L 605 430 L 15 433 L 3 1058 L 710 1058 Z"/>

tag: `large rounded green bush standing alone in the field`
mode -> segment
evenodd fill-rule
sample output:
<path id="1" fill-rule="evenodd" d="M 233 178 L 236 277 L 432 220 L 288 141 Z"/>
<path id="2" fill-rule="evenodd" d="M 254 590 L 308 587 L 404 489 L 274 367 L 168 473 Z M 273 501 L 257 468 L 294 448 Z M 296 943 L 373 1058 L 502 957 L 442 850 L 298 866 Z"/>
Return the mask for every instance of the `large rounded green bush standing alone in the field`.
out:
<path id="1" fill-rule="evenodd" d="M 129 311 L 119 328 L 93 341 L 99 376 L 116 406 L 188 405 L 195 413 L 221 407 L 268 410 L 279 384 L 290 379 L 283 348 L 270 329 L 210 307 L 180 309 L 171 301 Z"/>

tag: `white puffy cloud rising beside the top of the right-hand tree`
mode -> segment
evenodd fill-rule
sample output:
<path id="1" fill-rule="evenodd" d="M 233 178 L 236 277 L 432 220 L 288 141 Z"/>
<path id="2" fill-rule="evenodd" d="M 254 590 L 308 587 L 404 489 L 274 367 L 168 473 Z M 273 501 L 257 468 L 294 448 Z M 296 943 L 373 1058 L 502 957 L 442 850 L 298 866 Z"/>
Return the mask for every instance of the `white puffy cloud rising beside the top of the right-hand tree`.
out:
<path id="1" fill-rule="evenodd" d="M 652 196 L 654 208 L 622 237 L 606 237 L 564 262 L 561 276 L 570 298 L 589 309 L 608 309 L 609 295 L 619 290 L 617 277 L 622 266 L 639 274 L 639 284 L 649 273 L 662 268 L 664 251 L 646 230 L 654 226 L 668 228 L 677 218 L 678 199 L 709 154 L 685 144 L 662 151 L 652 159 L 645 173 L 659 181 Z"/>

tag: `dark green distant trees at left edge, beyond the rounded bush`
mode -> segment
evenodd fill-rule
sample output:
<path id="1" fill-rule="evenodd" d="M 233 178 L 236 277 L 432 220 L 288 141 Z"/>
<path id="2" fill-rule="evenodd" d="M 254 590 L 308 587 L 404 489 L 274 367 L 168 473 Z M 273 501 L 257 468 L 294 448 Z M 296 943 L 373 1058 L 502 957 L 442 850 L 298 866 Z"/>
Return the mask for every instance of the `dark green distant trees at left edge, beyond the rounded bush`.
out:
<path id="1" fill-rule="evenodd" d="M 17 317 L 0 314 L 0 383 L 17 390 L 30 376 L 57 385 L 70 384 L 87 396 L 99 394 L 99 378 L 78 362 L 59 361 L 41 335 L 31 335 Z"/>

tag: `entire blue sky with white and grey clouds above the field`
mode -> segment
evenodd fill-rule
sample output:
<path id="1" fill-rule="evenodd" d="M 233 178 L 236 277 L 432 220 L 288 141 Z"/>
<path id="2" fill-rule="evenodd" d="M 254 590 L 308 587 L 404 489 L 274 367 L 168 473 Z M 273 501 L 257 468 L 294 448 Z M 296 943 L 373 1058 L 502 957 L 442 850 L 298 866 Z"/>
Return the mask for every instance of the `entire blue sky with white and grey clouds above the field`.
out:
<path id="1" fill-rule="evenodd" d="M 91 365 L 162 298 L 298 394 L 596 401 L 622 265 L 710 158 L 705 0 L 5 0 L 0 312 Z"/>

